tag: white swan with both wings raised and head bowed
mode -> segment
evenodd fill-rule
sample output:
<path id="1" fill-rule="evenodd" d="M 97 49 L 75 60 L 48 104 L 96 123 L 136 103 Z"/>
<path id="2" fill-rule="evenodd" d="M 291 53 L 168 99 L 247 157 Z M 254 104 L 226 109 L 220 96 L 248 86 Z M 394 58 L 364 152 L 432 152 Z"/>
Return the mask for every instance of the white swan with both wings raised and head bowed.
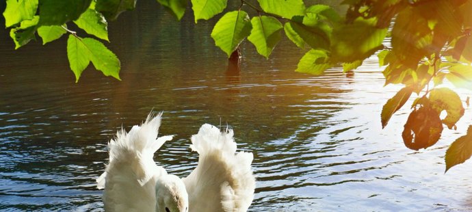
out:
<path id="1" fill-rule="evenodd" d="M 203 124 L 192 135 L 200 157 L 186 178 L 156 165 L 154 153 L 172 136 L 157 137 L 161 113 L 148 115 L 129 133 L 118 131 L 109 146 L 109 164 L 97 178 L 105 188 L 105 211 L 247 211 L 254 198 L 252 153 L 236 153 L 233 131 Z"/>

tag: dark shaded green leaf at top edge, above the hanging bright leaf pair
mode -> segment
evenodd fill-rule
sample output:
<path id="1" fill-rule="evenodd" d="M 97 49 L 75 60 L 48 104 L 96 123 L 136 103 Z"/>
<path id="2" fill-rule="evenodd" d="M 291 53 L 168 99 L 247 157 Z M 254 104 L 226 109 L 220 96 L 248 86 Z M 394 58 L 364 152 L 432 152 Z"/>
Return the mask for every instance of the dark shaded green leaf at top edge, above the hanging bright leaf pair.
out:
<path id="1" fill-rule="evenodd" d="M 74 21 L 85 12 L 92 0 L 41 0 L 40 25 L 63 25 Z"/>

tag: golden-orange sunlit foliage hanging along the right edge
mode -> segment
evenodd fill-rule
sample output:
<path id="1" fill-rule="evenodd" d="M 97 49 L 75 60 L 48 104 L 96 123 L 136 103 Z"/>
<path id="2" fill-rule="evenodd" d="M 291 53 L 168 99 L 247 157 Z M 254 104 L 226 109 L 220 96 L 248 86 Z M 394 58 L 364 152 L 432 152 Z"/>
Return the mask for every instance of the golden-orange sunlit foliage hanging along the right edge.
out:
<path id="1" fill-rule="evenodd" d="M 384 67 L 385 85 L 403 84 L 382 109 L 382 127 L 417 94 L 404 126 L 402 138 L 413 150 L 428 148 L 438 142 L 443 124 L 456 129 L 464 115 L 460 96 L 441 88 L 447 79 L 456 88 L 472 89 L 472 1 L 345 1 L 350 5 L 346 21 L 376 18 L 377 27 L 390 27 L 391 47 L 378 53 Z M 442 113 L 447 113 L 443 119 Z M 469 133 L 449 146 L 446 171 L 472 155 Z"/>

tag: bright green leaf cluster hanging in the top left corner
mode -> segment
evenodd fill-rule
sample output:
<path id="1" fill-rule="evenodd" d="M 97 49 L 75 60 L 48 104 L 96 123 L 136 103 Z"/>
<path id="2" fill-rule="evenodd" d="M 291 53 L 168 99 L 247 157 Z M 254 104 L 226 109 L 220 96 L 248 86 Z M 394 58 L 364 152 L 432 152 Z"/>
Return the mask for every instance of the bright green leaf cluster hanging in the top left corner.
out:
<path id="1" fill-rule="evenodd" d="M 3 12 L 5 27 L 11 28 L 10 37 L 15 43 L 15 49 L 36 40 L 36 34 L 42 39 L 42 44 L 47 44 L 69 33 L 67 55 L 76 81 L 90 61 L 104 75 L 120 79 L 120 61 L 112 51 L 101 41 L 81 38 L 76 31 L 68 29 L 68 25 L 73 23 L 86 34 L 109 41 L 105 15 L 111 14 L 107 13 L 109 10 L 103 10 L 105 2 L 112 1 L 7 0 Z M 121 9 L 115 12 L 118 10 Z"/>

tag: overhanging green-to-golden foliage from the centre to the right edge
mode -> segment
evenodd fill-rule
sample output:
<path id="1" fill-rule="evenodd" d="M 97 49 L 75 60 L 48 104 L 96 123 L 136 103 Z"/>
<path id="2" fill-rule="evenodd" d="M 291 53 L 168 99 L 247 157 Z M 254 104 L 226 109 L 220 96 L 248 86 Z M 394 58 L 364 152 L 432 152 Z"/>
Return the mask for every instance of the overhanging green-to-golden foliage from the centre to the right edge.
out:
<path id="1" fill-rule="evenodd" d="M 380 51 L 385 85 L 405 85 L 384 105 L 382 127 L 417 94 L 402 133 L 408 148 L 419 150 L 436 144 L 443 124 L 456 129 L 464 114 L 462 101 L 454 90 L 440 85 L 447 79 L 458 88 L 472 89 L 472 0 L 346 0 L 345 16 L 327 5 L 307 7 L 302 0 L 257 3 L 241 0 L 239 10 L 224 14 L 213 28 L 215 44 L 228 57 L 246 37 L 259 54 L 269 57 L 282 29 L 298 47 L 309 48 L 298 63 L 298 72 L 319 75 L 337 64 L 349 71 Z M 258 16 L 249 17 L 244 5 L 256 10 Z M 215 14 L 218 12 L 212 16 Z M 384 44 L 386 38 L 391 42 Z M 441 120 L 443 111 L 447 116 Z M 464 144 L 456 142 L 449 153 L 472 155 L 472 148 L 457 150 Z M 450 155 L 445 157 L 446 170 L 469 158 Z"/>

